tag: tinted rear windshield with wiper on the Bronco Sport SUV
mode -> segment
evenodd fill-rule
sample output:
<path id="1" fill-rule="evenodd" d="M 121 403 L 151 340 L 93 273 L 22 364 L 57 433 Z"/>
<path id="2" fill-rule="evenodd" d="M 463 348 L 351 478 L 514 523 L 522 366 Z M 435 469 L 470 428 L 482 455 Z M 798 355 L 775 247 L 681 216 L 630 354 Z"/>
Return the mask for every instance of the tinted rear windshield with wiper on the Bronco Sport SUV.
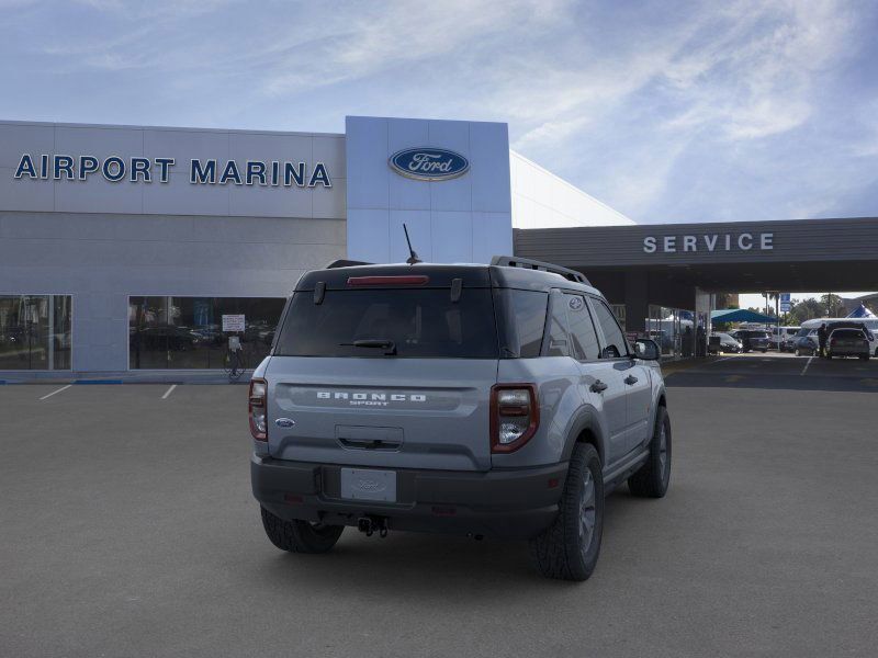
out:
<path id="1" fill-rule="evenodd" d="M 296 293 L 281 329 L 280 356 L 376 356 L 358 340 L 393 341 L 396 358 L 496 359 L 497 330 L 487 288 L 326 291 L 322 304 Z"/>

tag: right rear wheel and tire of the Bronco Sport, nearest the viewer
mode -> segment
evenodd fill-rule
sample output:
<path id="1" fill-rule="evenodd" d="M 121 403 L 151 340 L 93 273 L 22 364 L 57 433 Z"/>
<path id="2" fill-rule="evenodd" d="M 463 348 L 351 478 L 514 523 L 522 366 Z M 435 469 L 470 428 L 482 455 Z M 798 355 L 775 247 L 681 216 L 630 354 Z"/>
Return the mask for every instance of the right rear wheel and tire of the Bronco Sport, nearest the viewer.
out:
<path id="1" fill-rule="evenodd" d="M 577 443 L 570 460 L 558 518 L 530 541 L 530 555 L 537 569 L 547 578 L 586 580 L 597 565 L 603 533 L 600 456 L 593 445 Z"/>

